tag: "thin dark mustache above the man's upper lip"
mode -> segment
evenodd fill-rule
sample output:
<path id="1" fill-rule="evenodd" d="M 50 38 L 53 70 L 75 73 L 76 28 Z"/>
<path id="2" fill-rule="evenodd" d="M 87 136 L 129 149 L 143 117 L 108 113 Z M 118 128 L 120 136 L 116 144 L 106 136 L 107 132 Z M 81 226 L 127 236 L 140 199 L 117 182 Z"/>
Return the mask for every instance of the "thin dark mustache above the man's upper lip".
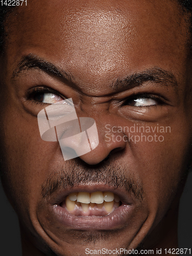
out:
<path id="1" fill-rule="evenodd" d="M 103 164 L 101 167 L 88 167 L 71 164 L 53 172 L 41 186 L 42 199 L 51 197 L 59 190 L 70 190 L 78 185 L 104 184 L 114 189 L 123 188 L 136 200 L 143 200 L 143 186 L 127 168 L 117 164 Z"/>

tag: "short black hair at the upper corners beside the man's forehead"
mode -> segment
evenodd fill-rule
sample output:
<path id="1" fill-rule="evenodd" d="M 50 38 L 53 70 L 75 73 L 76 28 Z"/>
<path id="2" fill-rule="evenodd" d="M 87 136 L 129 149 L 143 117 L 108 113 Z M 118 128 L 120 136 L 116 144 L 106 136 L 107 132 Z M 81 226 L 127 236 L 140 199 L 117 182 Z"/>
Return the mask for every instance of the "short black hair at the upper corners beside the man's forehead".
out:
<path id="1" fill-rule="evenodd" d="M 192 14 L 192 0 L 176 0 L 184 11 Z M 4 52 L 5 47 L 5 20 L 7 16 L 15 9 L 12 6 L 0 6 L 0 54 Z M 192 35 L 192 15 L 190 20 L 190 32 Z"/>

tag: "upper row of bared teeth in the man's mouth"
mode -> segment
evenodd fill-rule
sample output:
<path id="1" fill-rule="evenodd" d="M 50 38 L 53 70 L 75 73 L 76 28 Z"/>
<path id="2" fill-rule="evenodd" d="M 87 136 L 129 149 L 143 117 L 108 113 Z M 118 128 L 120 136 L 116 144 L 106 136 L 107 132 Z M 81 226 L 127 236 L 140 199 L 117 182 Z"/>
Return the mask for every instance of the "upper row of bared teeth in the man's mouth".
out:
<path id="1" fill-rule="evenodd" d="M 93 192 L 93 193 L 88 193 L 88 192 L 79 192 L 79 193 L 71 193 L 69 195 L 69 199 L 71 201 L 76 201 L 80 203 L 96 203 L 96 204 L 101 204 L 103 201 L 105 202 L 112 202 L 113 200 L 115 202 L 119 202 L 119 197 L 117 195 L 114 195 L 112 192 Z"/>

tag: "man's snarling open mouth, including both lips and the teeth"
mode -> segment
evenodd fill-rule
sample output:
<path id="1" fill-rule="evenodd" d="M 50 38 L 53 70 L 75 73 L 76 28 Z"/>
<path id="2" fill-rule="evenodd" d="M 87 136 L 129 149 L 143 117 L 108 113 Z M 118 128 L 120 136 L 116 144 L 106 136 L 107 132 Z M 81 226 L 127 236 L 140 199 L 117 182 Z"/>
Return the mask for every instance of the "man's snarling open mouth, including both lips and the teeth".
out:
<path id="1" fill-rule="evenodd" d="M 132 195 L 106 185 L 86 185 L 60 191 L 49 200 L 50 213 L 64 229 L 106 230 L 124 228 L 137 203 Z"/>

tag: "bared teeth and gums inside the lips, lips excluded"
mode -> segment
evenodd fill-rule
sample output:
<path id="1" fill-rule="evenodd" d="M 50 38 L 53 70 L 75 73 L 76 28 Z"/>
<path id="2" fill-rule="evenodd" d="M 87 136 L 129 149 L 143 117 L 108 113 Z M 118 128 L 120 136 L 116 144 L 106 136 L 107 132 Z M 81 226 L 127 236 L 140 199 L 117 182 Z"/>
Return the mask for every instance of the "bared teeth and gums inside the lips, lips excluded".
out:
<path id="1" fill-rule="evenodd" d="M 106 216 L 121 205 L 119 196 L 110 191 L 71 193 L 60 204 L 75 216 Z"/>

